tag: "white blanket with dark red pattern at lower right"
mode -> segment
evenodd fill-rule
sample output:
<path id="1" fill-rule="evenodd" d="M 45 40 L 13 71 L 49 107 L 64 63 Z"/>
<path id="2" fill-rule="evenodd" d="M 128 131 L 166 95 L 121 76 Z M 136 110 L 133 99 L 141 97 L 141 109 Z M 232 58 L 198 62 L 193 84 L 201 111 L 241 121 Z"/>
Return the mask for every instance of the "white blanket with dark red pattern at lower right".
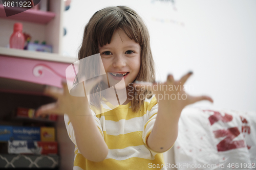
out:
<path id="1" fill-rule="evenodd" d="M 174 152 L 177 169 L 254 169 L 256 112 L 186 107 Z"/>

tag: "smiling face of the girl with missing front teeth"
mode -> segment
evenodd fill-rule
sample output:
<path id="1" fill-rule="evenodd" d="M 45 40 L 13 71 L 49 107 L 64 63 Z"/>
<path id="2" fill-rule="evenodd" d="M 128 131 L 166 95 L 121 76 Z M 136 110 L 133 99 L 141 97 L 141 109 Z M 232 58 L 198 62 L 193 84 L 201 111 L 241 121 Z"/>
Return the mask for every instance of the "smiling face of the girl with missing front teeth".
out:
<path id="1" fill-rule="evenodd" d="M 127 87 L 137 78 L 140 70 L 140 45 L 122 30 L 116 30 L 110 44 L 99 47 L 99 53 L 105 72 L 109 73 L 109 80 L 120 80 L 122 74 Z"/>

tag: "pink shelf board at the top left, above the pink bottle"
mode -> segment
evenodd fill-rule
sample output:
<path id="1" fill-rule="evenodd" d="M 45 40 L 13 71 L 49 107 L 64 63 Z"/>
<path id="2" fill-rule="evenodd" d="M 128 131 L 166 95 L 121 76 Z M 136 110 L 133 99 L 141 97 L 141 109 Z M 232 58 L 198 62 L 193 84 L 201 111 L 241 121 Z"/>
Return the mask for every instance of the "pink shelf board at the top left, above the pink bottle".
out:
<path id="1" fill-rule="evenodd" d="M 10 7 L 9 10 L 12 11 L 24 11 L 24 8 L 21 7 Z M 54 12 L 45 12 L 40 10 L 26 10 L 24 12 L 18 13 L 7 17 L 3 5 L 0 5 L 0 17 L 5 19 L 15 19 L 20 21 L 28 21 L 34 23 L 47 24 L 50 20 L 55 17 Z"/>

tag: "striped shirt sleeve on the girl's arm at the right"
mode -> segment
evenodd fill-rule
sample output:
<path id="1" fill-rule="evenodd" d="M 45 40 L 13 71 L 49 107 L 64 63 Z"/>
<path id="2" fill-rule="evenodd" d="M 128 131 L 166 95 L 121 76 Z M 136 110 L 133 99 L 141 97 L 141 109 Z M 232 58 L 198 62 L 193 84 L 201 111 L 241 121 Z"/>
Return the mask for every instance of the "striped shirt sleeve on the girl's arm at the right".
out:
<path id="1" fill-rule="evenodd" d="M 146 109 L 147 122 L 146 122 L 146 124 L 144 125 L 144 128 L 143 128 L 142 139 L 143 139 L 143 142 L 145 144 L 145 147 L 148 150 L 150 150 L 153 153 L 163 153 L 163 152 L 153 151 L 152 149 L 150 149 L 150 147 L 148 147 L 148 144 L 147 144 L 147 138 L 148 138 L 148 136 L 150 136 L 150 133 L 153 130 L 153 127 L 155 125 L 157 112 L 158 112 L 158 103 L 157 103 L 157 100 L 156 100 L 155 96 L 153 96 L 153 98 L 150 102 L 150 105 L 148 105 L 148 107 Z M 172 147 L 173 147 L 173 145 L 172 145 Z M 172 147 L 170 147 L 168 150 L 170 150 Z M 166 152 L 166 151 L 164 151 L 164 152 Z"/>

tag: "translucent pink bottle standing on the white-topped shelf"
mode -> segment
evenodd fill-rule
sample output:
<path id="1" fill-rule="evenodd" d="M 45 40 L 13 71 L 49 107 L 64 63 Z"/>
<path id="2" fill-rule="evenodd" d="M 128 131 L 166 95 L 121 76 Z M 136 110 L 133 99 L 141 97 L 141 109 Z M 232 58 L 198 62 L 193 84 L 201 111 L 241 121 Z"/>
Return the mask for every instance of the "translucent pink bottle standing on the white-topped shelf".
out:
<path id="1" fill-rule="evenodd" d="M 20 22 L 14 23 L 13 33 L 10 37 L 10 48 L 23 49 L 25 37 L 22 33 L 23 25 Z"/>

